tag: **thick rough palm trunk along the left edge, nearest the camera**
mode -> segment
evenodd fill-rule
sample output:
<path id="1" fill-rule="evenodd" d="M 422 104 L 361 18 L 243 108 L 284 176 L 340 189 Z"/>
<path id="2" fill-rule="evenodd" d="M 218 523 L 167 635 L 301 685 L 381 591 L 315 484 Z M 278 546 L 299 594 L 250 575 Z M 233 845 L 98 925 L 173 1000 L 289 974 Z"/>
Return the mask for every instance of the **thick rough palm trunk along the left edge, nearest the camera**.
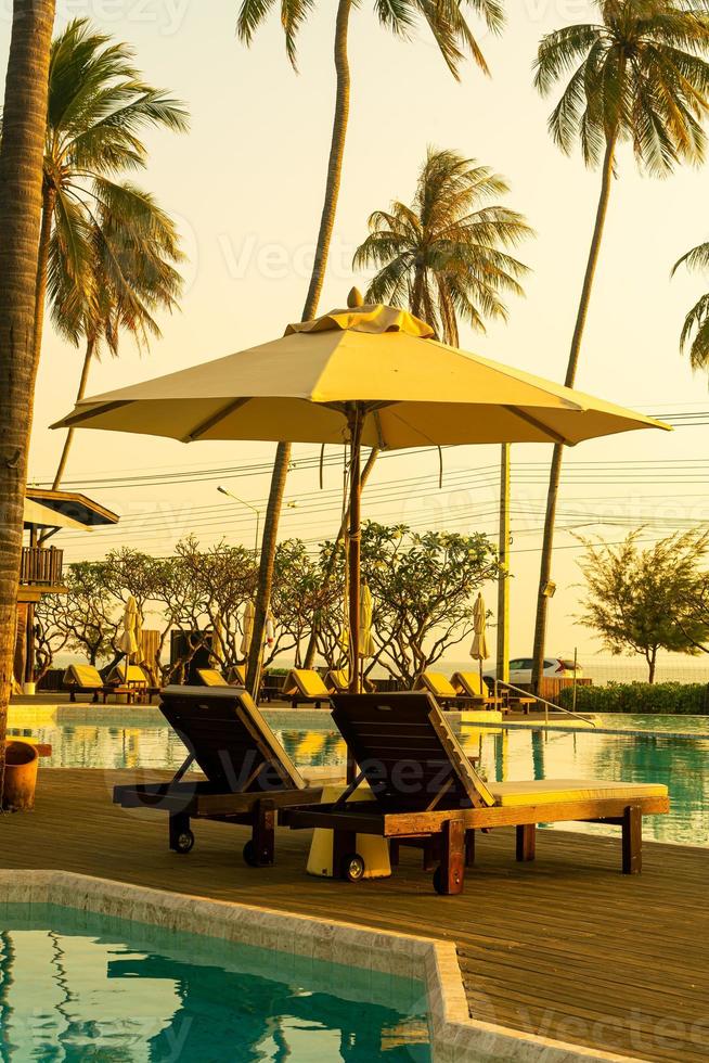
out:
<path id="1" fill-rule="evenodd" d="M 35 292 L 54 0 L 14 0 L 0 143 L 0 793 L 37 361 Z"/>

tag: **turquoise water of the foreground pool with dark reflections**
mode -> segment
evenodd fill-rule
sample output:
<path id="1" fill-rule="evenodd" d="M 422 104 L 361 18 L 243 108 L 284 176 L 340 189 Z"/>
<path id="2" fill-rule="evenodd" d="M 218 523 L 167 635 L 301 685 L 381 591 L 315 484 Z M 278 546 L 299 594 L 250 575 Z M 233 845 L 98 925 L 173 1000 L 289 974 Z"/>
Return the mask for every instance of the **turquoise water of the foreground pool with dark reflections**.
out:
<path id="1" fill-rule="evenodd" d="M 423 986 L 49 905 L 0 905 L 3 1063 L 429 1063 Z"/>

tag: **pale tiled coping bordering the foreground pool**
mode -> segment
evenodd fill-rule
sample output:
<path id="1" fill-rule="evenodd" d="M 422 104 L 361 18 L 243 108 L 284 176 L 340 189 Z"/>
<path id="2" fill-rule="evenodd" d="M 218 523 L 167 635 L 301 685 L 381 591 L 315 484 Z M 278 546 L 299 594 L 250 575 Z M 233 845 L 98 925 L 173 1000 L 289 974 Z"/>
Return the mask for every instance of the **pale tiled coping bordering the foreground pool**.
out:
<path id="1" fill-rule="evenodd" d="M 0 902 L 54 904 L 313 959 L 426 985 L 434 1063 L 639 1063 L 469 1017 L 455 946 L 256 906 L 150 889 L 66 871 L 0 871 Z"/>

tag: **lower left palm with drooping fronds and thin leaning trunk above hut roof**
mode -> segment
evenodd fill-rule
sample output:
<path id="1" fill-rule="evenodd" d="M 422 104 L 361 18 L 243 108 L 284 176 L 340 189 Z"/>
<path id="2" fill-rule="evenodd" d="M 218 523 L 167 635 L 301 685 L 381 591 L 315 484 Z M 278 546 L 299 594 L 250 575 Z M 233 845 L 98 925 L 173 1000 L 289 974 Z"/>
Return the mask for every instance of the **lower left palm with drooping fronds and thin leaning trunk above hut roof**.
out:
<path id="1" fill-rule="evenodd" d="M 109 207 L 100 204 L 96 220 L 88 227 L 89 261 L 79 283 L 56 232 L 50 242 L 52 320 L 70 343 L 85 344 L 77 402 L 86 394 L 91 363 L 101 347 L 117 357 L 125 331 L 139 348 L 146 348 L 151 337 L 160 335 L 154 313 L 172 310 L 182 290 L 182 278 L 175 267 L 184 256 L 175 222 L 146 192 L 128 184 L 119 188 L 121 194 Z M 125 215 L 123 206 L 128 208 Z M 73 438 L 74 428 L 69 428 L 54 490 L 62 482 Z"/>

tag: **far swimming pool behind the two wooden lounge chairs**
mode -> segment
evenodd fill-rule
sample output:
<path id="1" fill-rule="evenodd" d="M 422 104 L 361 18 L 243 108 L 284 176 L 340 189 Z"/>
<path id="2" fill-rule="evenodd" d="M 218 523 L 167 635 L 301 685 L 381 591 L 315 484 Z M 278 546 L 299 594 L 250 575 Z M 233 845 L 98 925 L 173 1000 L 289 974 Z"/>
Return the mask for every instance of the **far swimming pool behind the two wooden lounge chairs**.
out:
<path id="1" fill-rule="evenodd" d="M 300 767 L 341 766 L 345 743 L 328 713 L 281 709 L 267 710 L 266 716 Z M 709 847 L 709 719 L 620 715 L 594 719 L 597 731 L 461 723 L 455 729 L 468 753 L 480 757 L 490 780 L 598 778 L 665 783 L 671 812 L 648 818 L 646 837 Z M 11 733 L 51 743 L 54 752 L 49 763 L 55 767 L 177 768 L 185 755 L 157 708 L 121 713 L 112 708 L 108 718 L 101 708 L 67 706 L 43 718 L 11 716 L 10 722 Z M 586 823 L 572 829 L 606 830 Z"/>

